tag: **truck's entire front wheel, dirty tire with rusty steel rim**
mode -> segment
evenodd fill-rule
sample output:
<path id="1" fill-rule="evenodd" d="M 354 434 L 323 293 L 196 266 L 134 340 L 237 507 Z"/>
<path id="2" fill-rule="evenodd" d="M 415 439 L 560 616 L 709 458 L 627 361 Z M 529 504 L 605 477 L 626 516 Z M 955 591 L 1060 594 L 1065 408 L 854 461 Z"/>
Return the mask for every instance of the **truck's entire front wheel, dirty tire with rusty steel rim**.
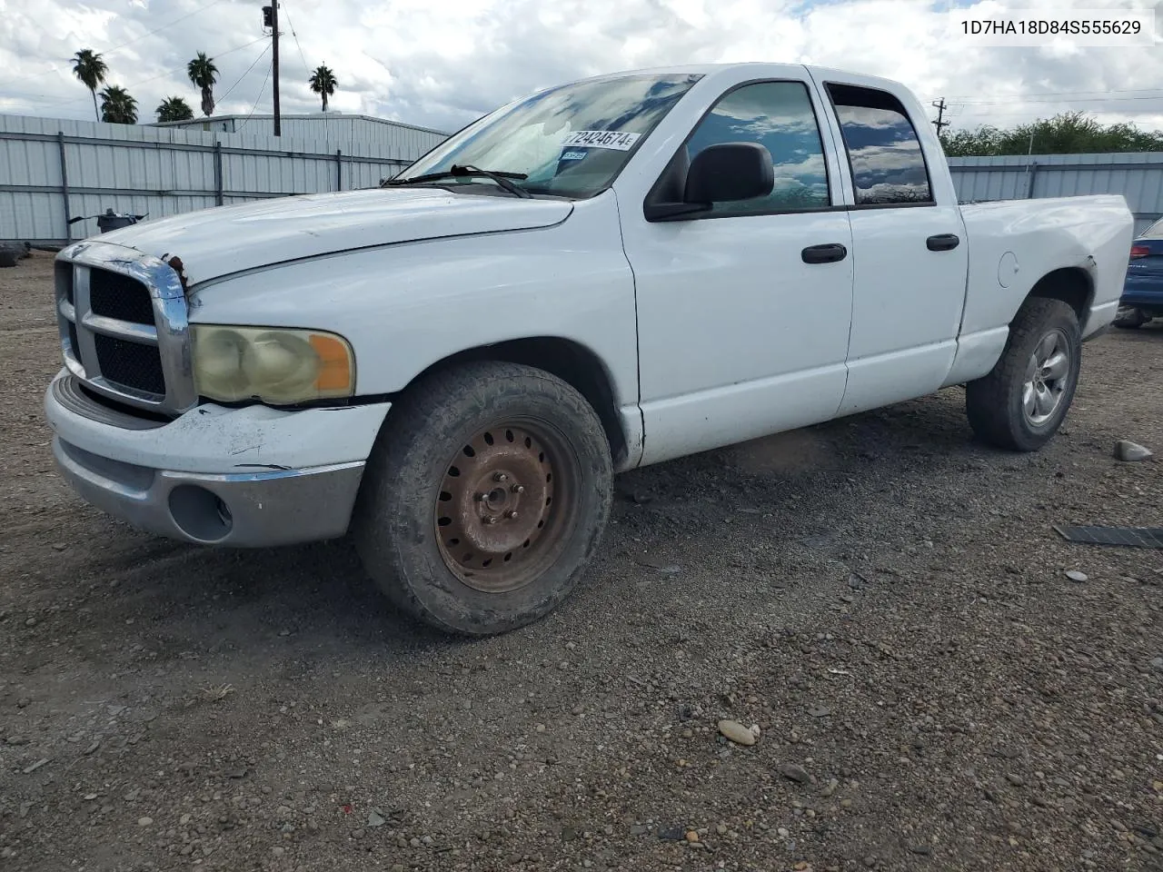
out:
<path id="1" fill-rule="evenodd" d="M 545 481 L 547 469 L 556 480 Z M 485 479 L 484 491 L 471 487 Z M 612 479 L 601 421 L 572 386 L 531 366 L 466 364 L 426 377 L 393 405 L 356 503 L 356 549 L 404 613 L 445 632 L 506 632 L 572 592 L 600 544 Z M 514 481 L 528 487 L 516 494 Z M 459 541 L 449 536 L 454 523 L 464 530 L 459 550 L 449 544 Z M 523 546 L 509 548 L 528 530 Z M 494 550 L 497 565 L 481 565 Z"/>

